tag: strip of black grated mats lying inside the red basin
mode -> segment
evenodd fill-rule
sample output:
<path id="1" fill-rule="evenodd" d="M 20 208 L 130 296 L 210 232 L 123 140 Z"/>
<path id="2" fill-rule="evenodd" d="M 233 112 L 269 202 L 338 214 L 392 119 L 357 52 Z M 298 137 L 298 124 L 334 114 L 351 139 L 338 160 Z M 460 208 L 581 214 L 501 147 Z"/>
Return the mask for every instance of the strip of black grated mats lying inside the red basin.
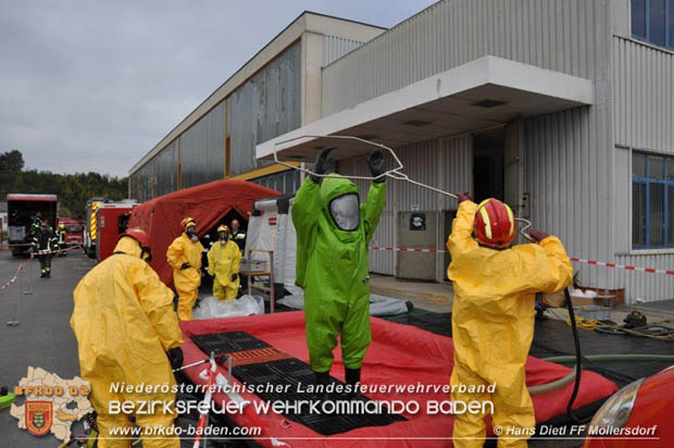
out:
<path id="1" fill-rule="evenodd" d="M 195 344 L 204 352 L 235 352 L 241 350 L 251 350 L 258 348 L 270 347 L 263 340 L 245 333 L 217 333 L 213 335 L 199 335 L 191 337 Z M 258 394 L 265 401 L 287 401 L 298 402 L 300 400 L 319 401 L 317 409 L 322 409 L 322 402 L 329 400 L 360 400 L 370 401 L 364 396 L 348 397 L 344 394 L 313 394 L 305 391 L 315 383 L 314 374 L 311 366 L 297 358 L 288 358 L 276 361 L 260 362 L 246 365 L 237 365 L 232 371 L 233 375 L 241 383 L 252 386 L 266 387 L 267 384 L 275 386 L 287 386 L 287 393 L 262 391 Z M 334 377 L 330 383 L 342 384 Z M 300 391 L 301 389 L 301 391 Z M 382 413 L 310 413 L 309 407 L 301 409 L 301 412 L 290 412 L 285 414 L 288 420 L 303 424 L 316 433 L 330 436 L 335 434 L 346 433 L 359 427 L 366 426 L 385 426 L 394 422 L 404 421 L 402 415 L 389 412 Z"/>

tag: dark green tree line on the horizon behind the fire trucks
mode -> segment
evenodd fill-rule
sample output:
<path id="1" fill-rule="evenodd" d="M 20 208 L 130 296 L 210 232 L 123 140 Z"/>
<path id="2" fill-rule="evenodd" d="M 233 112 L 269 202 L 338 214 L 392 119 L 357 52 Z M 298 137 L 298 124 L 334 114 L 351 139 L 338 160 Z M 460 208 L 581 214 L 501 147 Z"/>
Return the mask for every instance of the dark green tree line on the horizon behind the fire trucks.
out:
<path id="1" fill-rule="evenodd" d="M 8 192 L 57 195 L 60 215 L 83 219 L 87 200 L 96 197 L 122 200 L 127 196 L 127 177 L 99 173 L 57 174 L 49 171 L 24 170 L 21 151 L 0 153 L 0 201 Z"/>

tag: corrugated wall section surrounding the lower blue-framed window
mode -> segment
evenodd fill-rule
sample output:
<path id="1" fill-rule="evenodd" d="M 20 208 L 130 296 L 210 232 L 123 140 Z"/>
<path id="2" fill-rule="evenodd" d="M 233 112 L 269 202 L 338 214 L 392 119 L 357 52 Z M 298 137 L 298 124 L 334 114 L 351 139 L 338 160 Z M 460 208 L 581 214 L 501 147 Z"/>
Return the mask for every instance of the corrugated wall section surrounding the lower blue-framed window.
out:
<path id="1" fill-rule="evenodd" d="M 674 153 L 674 54 L 669 51 L 613 37 L 613 129 L 615 145 Z M 616 208 L 617 225 L 629 228 L 632 220 L 631 151 L 616 159 L 616 191 L 625 196 Z M 620 164 L 617 163 L 620 161 Z M 629 232 L 624 238 L 631 239 Z M 619 245 L 615 262 L 644 267 L 674 270 L 674 253 L 629 253 L 629 244 Z M 598 269 L 598 267 L 595 267 Z M 635 271 L 616 271 L 629 302 L 674 298 L 674 277 Z"/>

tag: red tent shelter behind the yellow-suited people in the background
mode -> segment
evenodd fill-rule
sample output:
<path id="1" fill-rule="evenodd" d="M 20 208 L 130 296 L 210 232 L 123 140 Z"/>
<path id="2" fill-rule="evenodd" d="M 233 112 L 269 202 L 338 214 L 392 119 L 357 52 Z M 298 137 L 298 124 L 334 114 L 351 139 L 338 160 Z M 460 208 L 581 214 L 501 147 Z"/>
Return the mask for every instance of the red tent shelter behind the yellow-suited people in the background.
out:
<path id="1" fill-rule="evenodd" d="M 203 236 L 233 209 L 248 217 L 253 202 L 278 196 L 279 192 L 244 181 L 216 181 L 186 188 L 143 202 L 132 212 L 129 227 L 140 227 L 152 239 L 150 265 L 162 282 L 173 285 L 173 271 L 166 262 L 166 249 L 180 235 L 180 221 L 190 216 L 197 221 Z"/>

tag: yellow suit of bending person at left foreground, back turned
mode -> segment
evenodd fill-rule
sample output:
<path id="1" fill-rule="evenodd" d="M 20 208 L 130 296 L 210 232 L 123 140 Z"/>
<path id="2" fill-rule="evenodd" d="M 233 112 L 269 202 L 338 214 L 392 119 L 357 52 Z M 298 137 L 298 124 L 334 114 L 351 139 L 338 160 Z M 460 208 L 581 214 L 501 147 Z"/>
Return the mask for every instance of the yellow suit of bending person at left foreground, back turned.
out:
<path id="1" fill-rule="evenodd" d="M 79 282 L 74 297 L 71 327 L 77 338 L 82 377 L 91 385 L 89 399 L 98 413 L 101 448 L 129 447 L 130 440 L 105 439 L 110 430 L 127 427 L 124 413 L 110 413 L 109 402 L 175 400 L 175 394 L 114 393 L 111 384 L 175 385 L 166 351 L 183 344 L 173 311 L 173 291 L 148 263 L 140 260 L 140 246 L 124 237 L 115 253 L 93 267 Z M 138 406 L 138 405 L 137 405 Z M 175 415 L 138 413 L 139 426 L 171 427 Z M 165 438 L 165 436 L 163 436 Z M 176 438 L 143 438 L 147 448 L 178 448 Z"/>

